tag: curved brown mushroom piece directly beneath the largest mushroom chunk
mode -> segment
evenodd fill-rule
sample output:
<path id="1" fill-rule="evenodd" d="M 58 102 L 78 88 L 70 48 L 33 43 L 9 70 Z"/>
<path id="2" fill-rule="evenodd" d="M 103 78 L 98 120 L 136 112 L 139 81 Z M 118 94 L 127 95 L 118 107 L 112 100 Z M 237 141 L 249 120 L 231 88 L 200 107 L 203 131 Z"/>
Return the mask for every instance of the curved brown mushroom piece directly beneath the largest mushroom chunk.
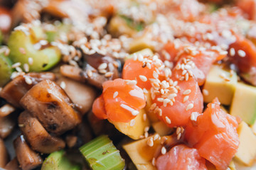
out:
<path id="1" fill-rule="evenodd" d="M 50 154 L 65 147 L 65 142 L 58 137 L 51 136 L 36 118 L 28 111 L 23 111 L 18 117 L 18 125 L 31 149 L 44 154 Z"/>

